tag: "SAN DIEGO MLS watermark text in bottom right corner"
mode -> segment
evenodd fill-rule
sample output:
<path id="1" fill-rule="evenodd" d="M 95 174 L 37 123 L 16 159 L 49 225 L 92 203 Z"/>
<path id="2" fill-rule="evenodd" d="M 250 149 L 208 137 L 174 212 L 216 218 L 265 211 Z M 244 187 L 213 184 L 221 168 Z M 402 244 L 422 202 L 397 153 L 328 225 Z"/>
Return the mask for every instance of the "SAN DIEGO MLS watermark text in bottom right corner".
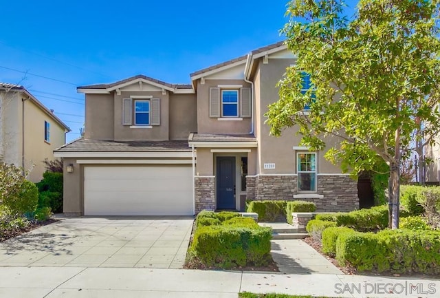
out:
<path id="1" fill-rule="evenodd" d="M 437 292 L 434 282 L 364 282 L 335 284 L 335 294 L 388 294 L 388 295 L 434 295 Z"/>

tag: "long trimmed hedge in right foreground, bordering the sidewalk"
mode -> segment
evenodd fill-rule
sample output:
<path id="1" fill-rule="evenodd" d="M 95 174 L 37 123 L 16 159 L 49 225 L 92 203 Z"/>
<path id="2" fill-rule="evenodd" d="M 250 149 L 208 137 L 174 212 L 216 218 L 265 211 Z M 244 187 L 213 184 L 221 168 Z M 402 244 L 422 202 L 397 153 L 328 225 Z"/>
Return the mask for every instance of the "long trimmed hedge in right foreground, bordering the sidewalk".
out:
<path id="1" fill-rule="evenodd" d="M 384 230 L 341 233 L 336 259 L 360 271 L 440 274 L 440 232 Z"/>

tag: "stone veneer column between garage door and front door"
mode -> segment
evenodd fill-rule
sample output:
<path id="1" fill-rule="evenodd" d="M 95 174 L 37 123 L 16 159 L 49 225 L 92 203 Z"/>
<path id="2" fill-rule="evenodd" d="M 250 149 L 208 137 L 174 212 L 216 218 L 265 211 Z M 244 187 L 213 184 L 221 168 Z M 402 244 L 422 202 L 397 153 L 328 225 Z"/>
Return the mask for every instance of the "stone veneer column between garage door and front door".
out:
<path id="1" fill-rule="evenodd" d="M 215 176 L 195 176 L 195 214 L 215 210 Z"/>

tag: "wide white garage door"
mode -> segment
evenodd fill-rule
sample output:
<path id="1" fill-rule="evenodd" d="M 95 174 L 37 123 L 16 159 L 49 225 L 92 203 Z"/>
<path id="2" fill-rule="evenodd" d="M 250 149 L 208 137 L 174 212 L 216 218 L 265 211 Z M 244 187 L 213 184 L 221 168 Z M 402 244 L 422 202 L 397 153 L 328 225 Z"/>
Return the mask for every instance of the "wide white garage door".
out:
<path id="1" fill-rule="evenodd" d="M 85 215 L 192 215 L 192 167 L 85 167 Z"/>

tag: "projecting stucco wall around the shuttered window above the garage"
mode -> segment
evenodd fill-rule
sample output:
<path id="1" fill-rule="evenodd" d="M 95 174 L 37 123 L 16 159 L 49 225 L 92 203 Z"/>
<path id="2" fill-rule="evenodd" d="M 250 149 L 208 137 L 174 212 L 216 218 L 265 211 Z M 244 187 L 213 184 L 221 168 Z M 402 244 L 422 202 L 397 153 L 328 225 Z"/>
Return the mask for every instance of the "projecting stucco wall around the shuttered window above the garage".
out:
<path id="1" fill-rule="evenodd" d="M 130 128 L 122 125 L 122 98 L 130 98 L 131 95 L 160 98 L 160 125 L 152 128 Z M 115 95 L 114 102 L 115 140 L 169 140 L 169 92 L 165 95 L 162 92 L 121 92 L 121 95 Z"/>

